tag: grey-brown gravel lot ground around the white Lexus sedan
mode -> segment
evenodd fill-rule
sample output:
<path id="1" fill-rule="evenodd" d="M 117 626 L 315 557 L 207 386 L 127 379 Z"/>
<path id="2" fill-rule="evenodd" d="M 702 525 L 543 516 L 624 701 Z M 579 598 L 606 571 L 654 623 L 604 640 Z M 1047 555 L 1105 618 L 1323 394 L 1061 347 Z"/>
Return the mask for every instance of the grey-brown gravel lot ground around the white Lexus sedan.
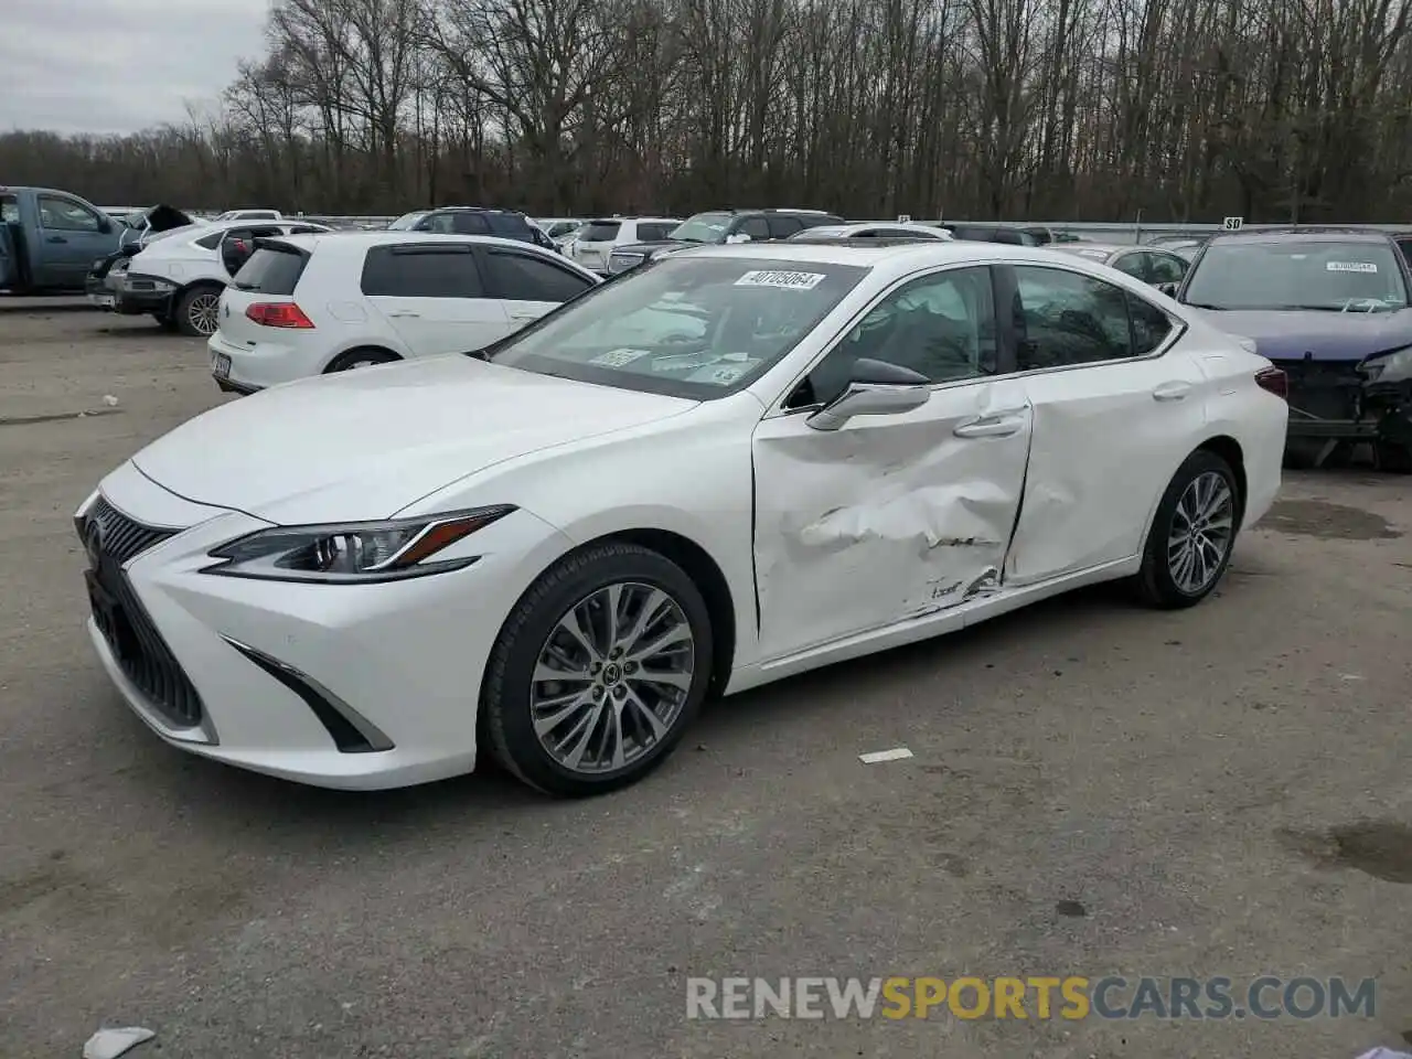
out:
<path id="1" fill-rule="evenodd" d="M 83 633 L 73 507 L 223 400 L 202 345 L 145 319 L 0 309 L 0 1055 L 78 1056 L 100 1025 L 201 1059 L 1412 1039 L 1412 481 L 1291 476 L 1193 611 L 1086 592 L 765 688 L 614 796 L 496 774 L 347 795 L 167 748 Z M 1371 1019 L 1197 1025 L 685 1017 L 689 974 L 963 973 L 1378 997 Z"/>

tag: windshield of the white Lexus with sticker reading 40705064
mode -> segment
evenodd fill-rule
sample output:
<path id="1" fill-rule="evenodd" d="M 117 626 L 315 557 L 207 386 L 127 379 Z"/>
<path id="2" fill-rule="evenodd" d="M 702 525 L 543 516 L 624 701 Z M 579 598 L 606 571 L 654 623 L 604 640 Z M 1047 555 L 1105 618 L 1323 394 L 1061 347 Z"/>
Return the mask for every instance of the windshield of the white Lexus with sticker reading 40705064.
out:
<path id="1" fill-rule="evenodd" d="M 710 400 L 758 378 L 867 274 L 857 265 L 672 256 L 504 340 L 497 364 Z"/>

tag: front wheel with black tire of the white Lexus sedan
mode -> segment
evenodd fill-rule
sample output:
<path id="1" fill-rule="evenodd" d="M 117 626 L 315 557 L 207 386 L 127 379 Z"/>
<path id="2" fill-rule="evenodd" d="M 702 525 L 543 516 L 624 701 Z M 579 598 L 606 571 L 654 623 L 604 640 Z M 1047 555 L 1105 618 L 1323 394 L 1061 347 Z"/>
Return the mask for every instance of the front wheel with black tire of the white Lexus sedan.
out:
<path id="1" fill-rule="evenodd" d="M 611 650 L 609 600 L 620 609 Z M 647 618 L 644 610 L 651 610 Z M 570 616 L 586 640 L 569 633 Z M 647 624 L 637 627 L 640 618 Z M 666 640 L 668 648 L 651 652 Z M 647 654 L 633 661 L 631 645 L 642 641 Z M 570 554 L 524 593 L 496 640 L 480 703 L 490 750 L 513 775 L 559 798 L 634 784 L 661 765 L 690 727 L 710 683 L 713 651 L 710 613 L 681 566 L 627 542 Z M 690 669 L 648 666 L 654 659 Z M 535 679 L 544 668 L 565 665 L 579 666 L 578 675 Z M 674 681 L 652 682 L 641 675 L 647 672 Z M 569 696 L 582 698 L 573 705 L 565 702 Z M 537 717 L 542 724 L 555 716 L 559 720 L 541 737 Z M 611 753 L 620 746 L 620 754 Z"/>

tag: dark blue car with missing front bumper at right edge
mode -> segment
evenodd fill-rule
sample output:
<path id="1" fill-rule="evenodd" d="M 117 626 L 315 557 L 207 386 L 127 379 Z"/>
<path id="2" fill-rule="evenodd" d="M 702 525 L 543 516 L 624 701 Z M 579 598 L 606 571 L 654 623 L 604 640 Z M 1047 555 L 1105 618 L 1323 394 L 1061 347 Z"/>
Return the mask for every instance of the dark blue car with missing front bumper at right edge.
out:
<path id="1" fill-rule="evenodd" d="M 1409 295 L 1392 236 L 1340 229 L 1216 236 L 1175 292 L 1289 377 L 1292 449 L 1319 465 L 1365 442 L 1398 473 L 1412 473 Z"/>

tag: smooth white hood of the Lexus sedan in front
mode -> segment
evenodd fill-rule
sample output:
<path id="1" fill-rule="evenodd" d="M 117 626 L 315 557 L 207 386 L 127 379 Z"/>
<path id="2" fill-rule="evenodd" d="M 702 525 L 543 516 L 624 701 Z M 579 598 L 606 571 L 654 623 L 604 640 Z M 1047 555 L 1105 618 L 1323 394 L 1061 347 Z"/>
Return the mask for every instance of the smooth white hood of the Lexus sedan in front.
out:
<path id="1" fill-rule="evenodd" d="M 491 465 L 696 405 L 453 354 L 233 400 L 133 462 L 188 500 L 277 524 L 376 520 Z"/>

